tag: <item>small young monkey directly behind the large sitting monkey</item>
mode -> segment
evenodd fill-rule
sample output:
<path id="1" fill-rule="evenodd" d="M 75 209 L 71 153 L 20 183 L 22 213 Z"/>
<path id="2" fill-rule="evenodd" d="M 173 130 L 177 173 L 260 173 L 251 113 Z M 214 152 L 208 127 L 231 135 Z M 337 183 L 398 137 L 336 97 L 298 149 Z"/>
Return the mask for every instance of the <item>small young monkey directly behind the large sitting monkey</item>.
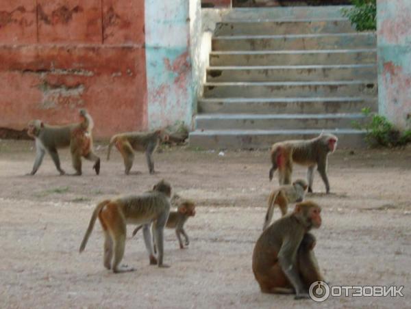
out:
<path id="1" fill-rule="evenodd" d="M 269 197 L 269 209 L 267 209 L 266 217 L 262 230 L 265 230 L 271 223 L 273 217 L 274 206 L 278 205 L 282 216 L 286 215 L 288 204 L 302 202 L 308 185 L 306 180 L 295 180 L 292 185 L 282 185 L 278 189 L 271 192 Z"/>

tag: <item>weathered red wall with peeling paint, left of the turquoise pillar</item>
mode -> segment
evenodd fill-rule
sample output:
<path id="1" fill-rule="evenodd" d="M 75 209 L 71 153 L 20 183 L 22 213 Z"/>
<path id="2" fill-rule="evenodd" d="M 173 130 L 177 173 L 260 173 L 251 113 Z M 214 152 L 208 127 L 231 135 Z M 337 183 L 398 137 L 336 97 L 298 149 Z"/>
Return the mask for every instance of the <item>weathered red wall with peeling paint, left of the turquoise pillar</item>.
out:
<path id="1" fill-rule="evenodd" d="M 0 128 L 86 107 L 96 137 L 146 129 L 144 2 L 0 1 Z"/>

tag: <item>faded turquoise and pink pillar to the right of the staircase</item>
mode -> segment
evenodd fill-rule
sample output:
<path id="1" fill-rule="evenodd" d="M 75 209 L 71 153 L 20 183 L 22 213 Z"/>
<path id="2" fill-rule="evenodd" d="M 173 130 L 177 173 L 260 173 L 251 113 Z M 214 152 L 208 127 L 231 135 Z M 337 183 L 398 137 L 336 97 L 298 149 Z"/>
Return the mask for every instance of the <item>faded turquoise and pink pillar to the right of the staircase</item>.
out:
<path id="1" fill-rule="evenodd" d="M 379 113 L 411 129 L 411 1 L 377 0 Z"/>

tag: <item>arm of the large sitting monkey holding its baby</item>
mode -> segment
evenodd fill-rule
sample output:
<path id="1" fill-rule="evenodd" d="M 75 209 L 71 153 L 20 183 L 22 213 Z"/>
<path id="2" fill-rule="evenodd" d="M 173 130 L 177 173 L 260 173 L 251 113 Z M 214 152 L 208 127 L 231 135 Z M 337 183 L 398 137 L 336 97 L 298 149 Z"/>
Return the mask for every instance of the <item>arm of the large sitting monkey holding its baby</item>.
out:
<path id="1" fill-rule="evenodd" d="M 299 233 L 299 231 L 294 232 L 296 233 L 295 240 L 292 240 L 292 237 L 286 237 L 277 258 L 282 271 L 284 271 L 284 274 L 295 288 L 296 297 L 301 297 L 301 295 L 305 294 L 305 290 L 297 267 L 297 251 L 303 239 L 303 233 Z"/>

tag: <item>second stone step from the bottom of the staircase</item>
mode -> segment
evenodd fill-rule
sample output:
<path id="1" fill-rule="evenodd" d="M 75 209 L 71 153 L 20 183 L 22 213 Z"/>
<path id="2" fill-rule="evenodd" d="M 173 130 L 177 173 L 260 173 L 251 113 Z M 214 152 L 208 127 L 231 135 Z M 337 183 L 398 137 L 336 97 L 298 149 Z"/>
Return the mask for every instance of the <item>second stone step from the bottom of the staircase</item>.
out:
<path id="1" fill-rule="evenodd" d="M 353 122 L 363 124 L 362 113 L 326 114 L 201 114 L 195 117 L 197 130 L 287 130 L 352 129 Z"/>

